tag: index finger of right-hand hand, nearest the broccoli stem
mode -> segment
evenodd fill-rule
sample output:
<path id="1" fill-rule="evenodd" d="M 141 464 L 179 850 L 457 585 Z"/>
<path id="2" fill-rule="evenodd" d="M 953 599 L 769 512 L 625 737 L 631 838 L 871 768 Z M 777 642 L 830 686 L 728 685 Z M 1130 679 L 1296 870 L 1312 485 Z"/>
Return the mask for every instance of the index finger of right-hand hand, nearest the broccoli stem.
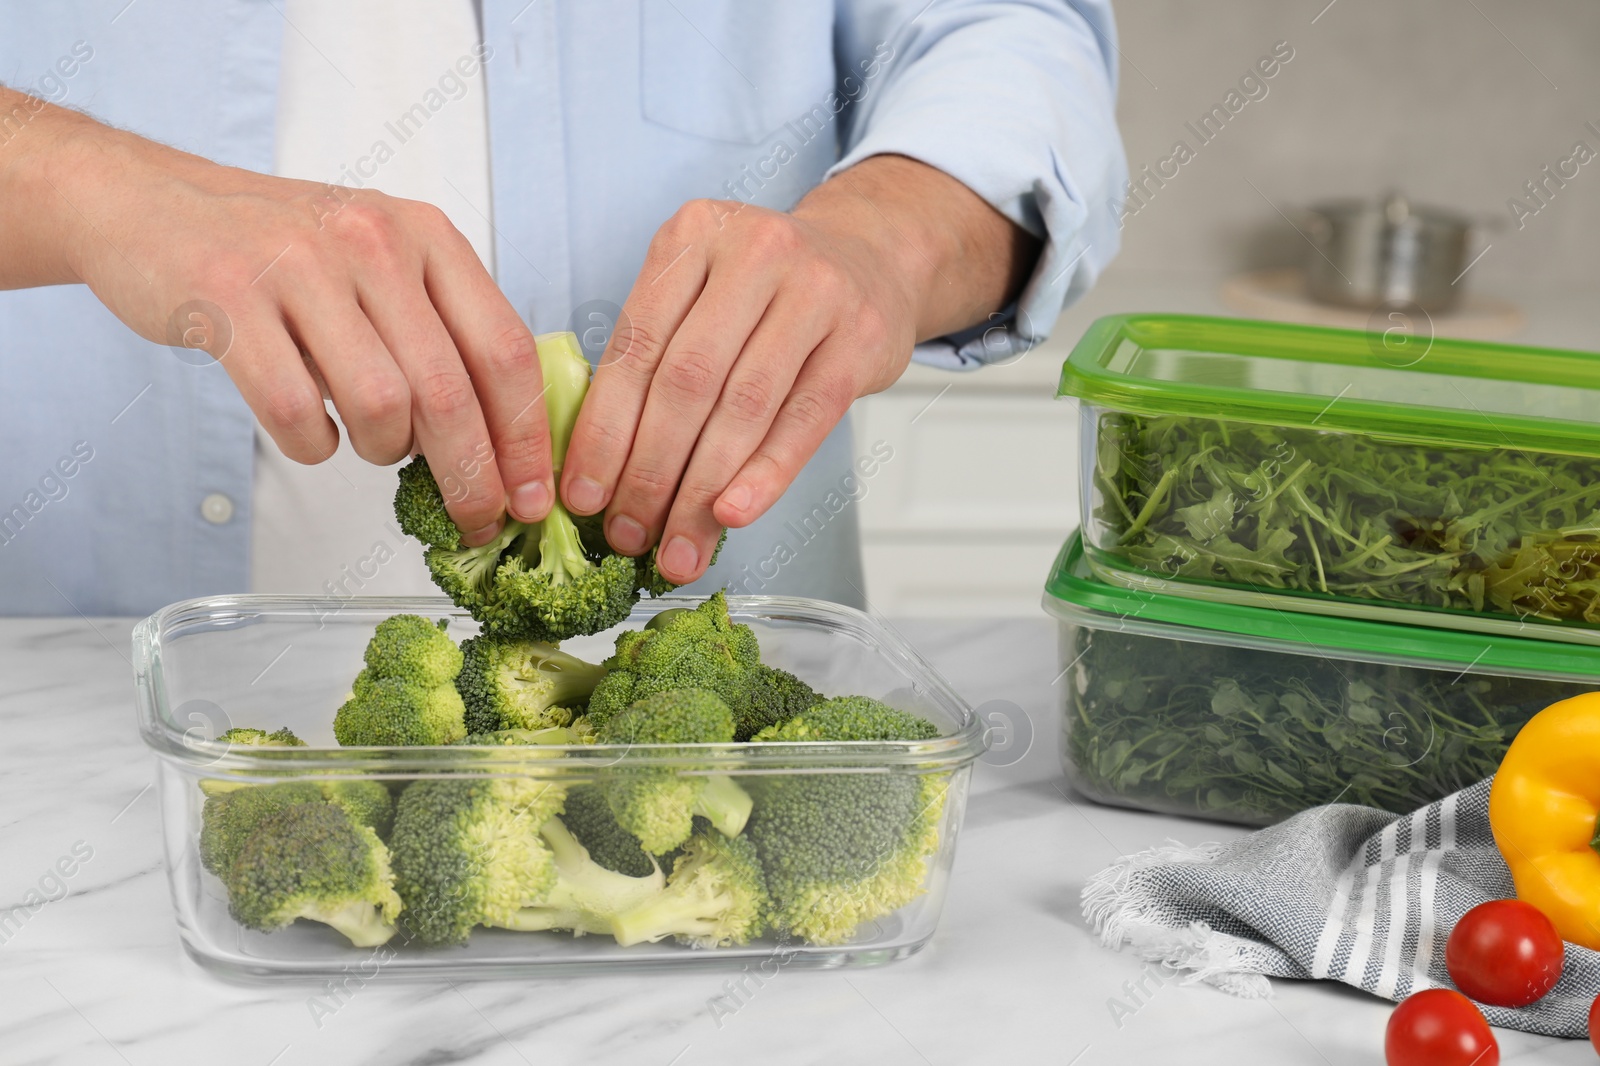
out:
<path id="1" fill-rule="evenodd" d="M 611 501 L 656 367 L 706 285 L 706 248 L 682 218 L 680 211 L 650 242 L 578 413 L 562 471 L 562 501 L 574 514 L 597 514 Z"/>

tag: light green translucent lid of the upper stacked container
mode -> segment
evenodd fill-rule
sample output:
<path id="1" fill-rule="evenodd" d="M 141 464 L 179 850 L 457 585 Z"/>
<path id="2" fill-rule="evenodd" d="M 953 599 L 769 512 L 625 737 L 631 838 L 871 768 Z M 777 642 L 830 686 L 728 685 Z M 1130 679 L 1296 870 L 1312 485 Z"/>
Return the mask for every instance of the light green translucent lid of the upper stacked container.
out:
<path id="1" fill-rule="evenodd" d="M 1600 456 L 1600 357 L 1371 331 L 1107 315 L 1059 395 L 1136 415 L 1200 415 L 1386 439 Z M 1403 397 L 1403 400 L 1400 399 Z"/>

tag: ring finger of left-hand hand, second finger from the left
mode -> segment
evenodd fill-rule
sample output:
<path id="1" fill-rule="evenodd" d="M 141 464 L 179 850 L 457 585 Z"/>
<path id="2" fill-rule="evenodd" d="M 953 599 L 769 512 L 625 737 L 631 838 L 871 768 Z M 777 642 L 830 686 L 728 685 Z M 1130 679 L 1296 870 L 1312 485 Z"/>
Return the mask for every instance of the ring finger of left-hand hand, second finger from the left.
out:
<path id="1" fill-rule="evenodd" d="M 355 290 L 307 285 L 290 298 L 290 325 L 328 386 L 355 455 L 378 466 L 411 451 L 411 389 L 355 301 Z"/>

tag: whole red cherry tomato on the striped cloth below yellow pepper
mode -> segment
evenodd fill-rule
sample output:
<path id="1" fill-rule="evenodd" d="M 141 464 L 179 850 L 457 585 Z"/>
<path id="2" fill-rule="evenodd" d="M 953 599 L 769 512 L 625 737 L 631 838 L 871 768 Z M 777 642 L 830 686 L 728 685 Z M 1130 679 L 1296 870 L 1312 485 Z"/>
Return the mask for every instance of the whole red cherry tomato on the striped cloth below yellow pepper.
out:
<path id="1" fill-rule="evenodd" d="M 1445 965 L 1456 988 L 1480 1004 L 1526 1007 L 1562 980 L 1562 935 L 1539 908 L 1491 900 L 1450 930 Z"/>

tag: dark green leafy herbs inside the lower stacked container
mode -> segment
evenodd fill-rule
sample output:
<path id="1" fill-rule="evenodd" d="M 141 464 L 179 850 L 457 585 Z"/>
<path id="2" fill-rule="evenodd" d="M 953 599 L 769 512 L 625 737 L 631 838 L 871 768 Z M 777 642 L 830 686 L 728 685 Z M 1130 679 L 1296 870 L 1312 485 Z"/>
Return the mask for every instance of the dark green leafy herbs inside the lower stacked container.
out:
<path id="1" fill-rule="evenodd" d="M 1082 626 L 1064 653 L 1075 787 L 1246 824 L 1334 802 L 1416 810 L 1494 773 L 1530 717 L 1587 691 Z"/>

